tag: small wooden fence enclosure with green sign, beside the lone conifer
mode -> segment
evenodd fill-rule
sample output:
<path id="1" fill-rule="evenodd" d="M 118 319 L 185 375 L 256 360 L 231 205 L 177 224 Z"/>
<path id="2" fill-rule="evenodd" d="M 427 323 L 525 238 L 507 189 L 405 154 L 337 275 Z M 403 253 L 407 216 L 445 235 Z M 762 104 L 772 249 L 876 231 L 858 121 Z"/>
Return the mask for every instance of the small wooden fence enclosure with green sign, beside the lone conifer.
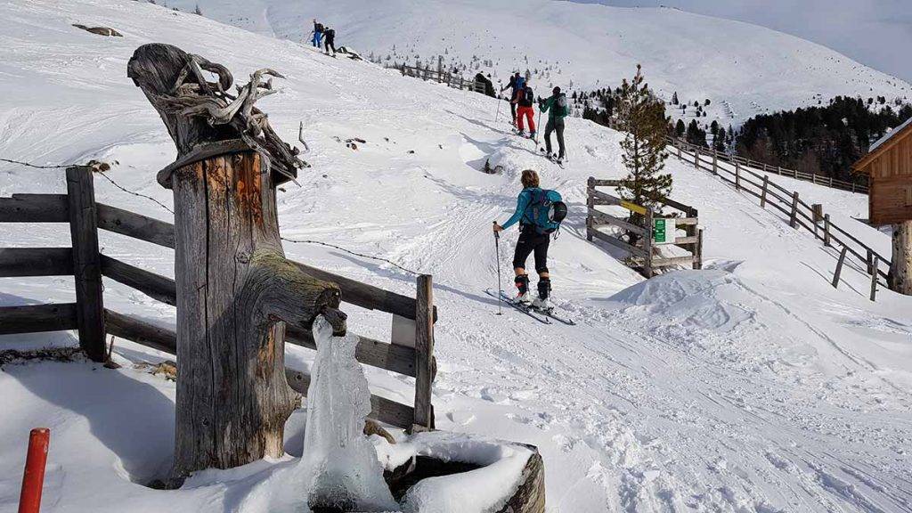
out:
<path id="1" fill-rule="evenodd" d="M 703 267 L 703 230 L 700 229 L 700 217 L 696 208 L 680 204 L 674 200 L 662 199 L 660 204 L 671 207 L 680 212 L 680 216 L 658 215 L 653 209 L 638 204 L 628 203 L 617 196 L 604 193 L 597 190 L 597 187 L 617 187 L 617 180 L 597 180 L 590 177 L 587 183 L 586 206 L 588 215 L 586 217 L 586 239 L 592 242 L 593 238 L 604 241 L 612 246 L 627 251 L 630 255 L 630 261 L 634 267 L 643 270 L 646 277 L 652 277 L 655 269 L 659 267 L 672 266 L 692 266 L 694 269 Z M 620 206 L 630 212 L 636 212 L 641 215 L 642 224 L 631 223 L 628 216 L 617 217 L 606 212 L 598 210 L 599 205 Z M 684 257 L 661 257 L 656 255 L 656 225 L 657 220 L 661 220 L 660 225 L 668 224 L 670 233 L 667 233 L 668 244 L 678 246 L 690 252 L 690 255 Z M 673 221 L 674 225 L 671 226 Z M 628 244 L 618 236 L 612 236 L 599 230 L 602 226 L 613 226 L 621 228 L 625 232 L 637 234 L 638 242 L 635 245 Z M 685 236 L 679 237 L 675 234 L 677 226 L 684 228 Z"/>

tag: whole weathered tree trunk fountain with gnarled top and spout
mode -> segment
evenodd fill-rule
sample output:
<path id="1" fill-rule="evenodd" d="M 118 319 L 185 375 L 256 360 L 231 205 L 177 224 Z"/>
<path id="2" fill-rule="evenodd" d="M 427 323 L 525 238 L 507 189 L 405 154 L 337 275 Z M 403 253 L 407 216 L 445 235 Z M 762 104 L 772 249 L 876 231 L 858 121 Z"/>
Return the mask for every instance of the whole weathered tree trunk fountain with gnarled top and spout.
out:
<path id="1" fill-rule="evenodd" d="M 219 81 L 207 82 L 202 69 Z M 285 323 L 309 330 L 323 315 L 337 334 L 346 330 L 339 288 L 308 276 L 282 250 L 276 181 L 303 162 L 253 107 L 261 88 L 272 90 L 260 72 L 234 98 L 224 92 L 227 69 L 146 45 L 129 74 L 178 147 L 178 161 L 159 173 L 174 193 L 180 379 L 172 477 L 281 456 L 296 399 L 285 381 Z"/>

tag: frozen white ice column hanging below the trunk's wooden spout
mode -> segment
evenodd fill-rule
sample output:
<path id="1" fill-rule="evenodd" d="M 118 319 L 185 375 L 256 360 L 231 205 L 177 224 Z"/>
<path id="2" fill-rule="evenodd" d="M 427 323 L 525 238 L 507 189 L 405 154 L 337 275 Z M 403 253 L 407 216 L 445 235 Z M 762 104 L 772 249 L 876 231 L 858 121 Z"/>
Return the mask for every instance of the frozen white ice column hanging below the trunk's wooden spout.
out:
<path id="1" fill-rule="evenodd" d="M 333 327 L 314 322 L 316 360 L 307 390 L 307 427 L 301 459 L 307 504 L 357 511 L 398 510 L 377 452 L 364 436 L 370 390 L 355 359 L 358 339 L 333 337 Z"/>

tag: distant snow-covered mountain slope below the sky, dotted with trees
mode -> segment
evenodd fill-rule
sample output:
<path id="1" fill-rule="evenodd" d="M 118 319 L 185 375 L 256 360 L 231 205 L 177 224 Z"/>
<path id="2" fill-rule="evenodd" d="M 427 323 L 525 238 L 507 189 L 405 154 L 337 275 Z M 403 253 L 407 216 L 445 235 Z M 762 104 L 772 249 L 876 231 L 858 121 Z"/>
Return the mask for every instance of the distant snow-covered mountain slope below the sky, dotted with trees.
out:
<path id="1" fill-rule="evenodd" d="M 829 48 L 746 23 L 671 8 L 623 8 L 557 0 L 170 0 L 184 10 L 265 35 L 302 41 L 312 18 L 337 45 L 391 61 L 420 57 L 479 66 L 495 83 L 538 70 L 538 92 L 617 87 L 643 65 L 670 101 L 711 100 L 710 123 L 737 126 L 756 114 L 815 105 L 836 95 L 912 99 L 907 82 Z M 490 62 L 485 62 L 489 61 Z M 548 71 L 545 71 L 545 68 Z M 689 111 L 693 115 L 693 109 Z"/>

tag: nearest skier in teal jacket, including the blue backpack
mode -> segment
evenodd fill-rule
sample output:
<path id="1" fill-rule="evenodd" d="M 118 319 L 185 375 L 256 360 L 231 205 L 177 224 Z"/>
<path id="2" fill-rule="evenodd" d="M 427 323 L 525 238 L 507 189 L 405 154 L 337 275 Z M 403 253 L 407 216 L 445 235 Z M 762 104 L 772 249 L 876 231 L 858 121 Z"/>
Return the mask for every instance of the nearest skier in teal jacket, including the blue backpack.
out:
<path id="1" fill-rule="evenodd" d="M 523 191 L 516 200 L 516 211 L 503 225 L 493 224 L 494 235 L 516 223 L 520 225 L 519 241 L 513 253 L 514 283 L 518 294 L 513 304 L 530 307 L 529 275 L 525 271 L 526 260 L 534 254 L 535 272 L 538 273 L 538 296 L 531 301 L 531 308 L 545 313 L 552 310 L 551 274 L 548 272 L 548 246 L 551 235 L 566 217 L 566 204 L 556 191 L 546 191 L 539 185 L 538 173 L 531 169 L 523 171 Z"/>

